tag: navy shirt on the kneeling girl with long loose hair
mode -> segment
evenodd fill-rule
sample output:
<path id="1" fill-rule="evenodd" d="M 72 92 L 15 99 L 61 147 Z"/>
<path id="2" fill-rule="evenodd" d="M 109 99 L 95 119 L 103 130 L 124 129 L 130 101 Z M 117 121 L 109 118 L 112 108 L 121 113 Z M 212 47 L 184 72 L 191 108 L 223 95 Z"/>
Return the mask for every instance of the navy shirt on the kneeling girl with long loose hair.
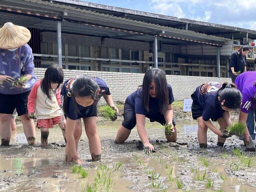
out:
<path id="1" fill-rule="evenodd" d="M 174 101 L 172 88 L 168 84 L 168 92 L 169 92 L 169 104 Z M 149 95 L 149 111 L 147 112 L 143 106 L 142 102 L 142 88 L 139 88 L 135 92 L 131 93 L 125 100 L 125 102 L 129 103 L 134 109 L 136 114 L 143 115 L 153 115 L 160 112 L 159 99 L 153 98 Z"/>

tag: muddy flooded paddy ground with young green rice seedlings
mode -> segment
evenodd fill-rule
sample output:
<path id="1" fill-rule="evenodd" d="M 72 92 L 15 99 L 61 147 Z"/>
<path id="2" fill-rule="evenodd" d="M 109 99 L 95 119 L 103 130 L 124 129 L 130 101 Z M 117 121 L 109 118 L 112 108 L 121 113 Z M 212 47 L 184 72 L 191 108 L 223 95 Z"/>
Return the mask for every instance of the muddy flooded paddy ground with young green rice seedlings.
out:
<path id="1" fill-rule="evenodd" d="M 224 147 L 217 147 L 217 136 L 208 131 L 208 148 L 201 149 L 195 121 L 177 122 L 175 143 L 166 142 L 159 124 L 147 122 L 156 152 L 146 155 L 139 149 L 136 129 L 124 144 L 114 143 L 120 123 L 121 119 L 99 120 L 99 162 L 89 160 L 83 131 L 78 153 L 87 162 L 82 167 L 88 173 L 86 178 L 73 173 L 72 164 L 65 162 L 59 128 L 50 129 L 49 148 L 41 148 L 39 129 L 36 145 L 28 146 L 18 126 L 12 134 L 12 145 L 0 147 L 0 191 L 90 191 L 89 187 L 91 191 L 256 191 L 255 153 L 237 157 L 232 152 L 234 147 L 244 151 L 238 138 L 232 136 Z"/>

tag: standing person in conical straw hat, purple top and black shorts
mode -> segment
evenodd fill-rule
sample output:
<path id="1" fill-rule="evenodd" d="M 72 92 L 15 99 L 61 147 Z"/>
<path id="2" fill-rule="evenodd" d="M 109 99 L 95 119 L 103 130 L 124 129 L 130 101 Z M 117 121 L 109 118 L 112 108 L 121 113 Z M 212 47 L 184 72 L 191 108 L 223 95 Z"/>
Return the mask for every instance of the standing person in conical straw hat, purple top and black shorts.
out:
<path id="1" fill-rule="evenodd" d="M 27 28 L 11 22 L 0 28 L 0 139 L 4 146 L 10 143 L 15 108 L 28 144 L 35 143 L 34 122 L 27 113 L 28 94 L 36 82 L 32 50 L 27 44 L 30 37 Z"/>

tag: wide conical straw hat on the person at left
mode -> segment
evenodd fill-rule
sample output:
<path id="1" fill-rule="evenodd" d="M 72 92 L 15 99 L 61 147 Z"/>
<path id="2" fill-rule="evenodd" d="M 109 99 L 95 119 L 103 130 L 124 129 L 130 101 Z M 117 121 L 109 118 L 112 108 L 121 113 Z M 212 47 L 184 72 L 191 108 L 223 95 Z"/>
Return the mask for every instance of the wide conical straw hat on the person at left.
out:
<path id="1" fill-rule="evenodd" d="M 30 31 L 23 27 L 6 22 L 0 28 L 0 48 L 17 48 L 27 43 L 31 38 Z"/>

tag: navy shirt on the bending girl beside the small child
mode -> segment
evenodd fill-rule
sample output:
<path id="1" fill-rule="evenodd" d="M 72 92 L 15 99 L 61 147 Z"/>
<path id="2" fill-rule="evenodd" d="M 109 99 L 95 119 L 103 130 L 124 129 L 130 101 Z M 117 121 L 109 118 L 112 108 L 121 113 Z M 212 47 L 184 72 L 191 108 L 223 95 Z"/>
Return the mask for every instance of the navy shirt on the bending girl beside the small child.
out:
<path id="1" fill-rule="evenodd" d="M 63 86 L 61 87 L 61 92 L 60 94 L 63 95 L 63 96 L 66 96 L 67 92 L 72 89 L 72 85 L 73 85 L 73 82 L 77 79 L 78 76 L 75 76 L 73 78 L 70 78 L 70 79 L 67 79 L 65 80 L 65 82 L 63 83 Z M 98 84 L 99 86 L 99 94 L 98 94 L 98 98 L 97 98 L 97 101 L 100 99 L 100 97 L 104 94 L 107 94 L 107 95 L 110 95 L 110 90 L 107 86 L 107 84 L 101 79 L 101 78 L 98 78 L 98 77 L 93 77 L 94 80 L 96 81 L 96 83 Z M 81 111 L 81 110 L 90 110 L 92 109 L 93 107 L 95 107 L 95 105 L 97 104 L 97 101 L 95 101 L 92 105 L 90 106 L 86 106 L 86 107 L 83 107 L 81 105 L 79 105 L 78 103 L 73 103 L 72 102 L 72 99 L 69 99 L 69 103 L 68 103 L 68 109 L 67 109 L 67 114 L 65 114 L 68 118 L 72 119 L 72 120 L 76 120 L 77 119 L 77 116 L 78 116 L 78 113 Z M 77 108 L 78 108 L 78 111 L 75 111 L 75 108 L 74 107 L 74 104 L 77 105 Z"/>

